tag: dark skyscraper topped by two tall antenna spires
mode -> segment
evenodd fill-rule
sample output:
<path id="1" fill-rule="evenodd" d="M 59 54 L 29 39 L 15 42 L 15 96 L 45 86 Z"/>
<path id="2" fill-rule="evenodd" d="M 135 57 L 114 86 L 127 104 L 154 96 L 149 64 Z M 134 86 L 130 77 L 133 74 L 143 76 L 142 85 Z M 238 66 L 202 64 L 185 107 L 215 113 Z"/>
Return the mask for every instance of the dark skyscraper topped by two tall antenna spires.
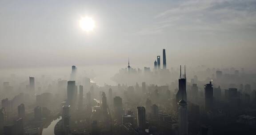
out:
<path id="1" fill-rule="evenodd" d="M 181 66 L 180 66 L 180 79 L 179 79 L 179 91 L 176 95 L 176 101 L 179 102 L 181 99 L 187 101 L 187 90 L 186 90 L 186 66 L 184 67 L 185 74 L 184 78 L 181 77 Z"/>

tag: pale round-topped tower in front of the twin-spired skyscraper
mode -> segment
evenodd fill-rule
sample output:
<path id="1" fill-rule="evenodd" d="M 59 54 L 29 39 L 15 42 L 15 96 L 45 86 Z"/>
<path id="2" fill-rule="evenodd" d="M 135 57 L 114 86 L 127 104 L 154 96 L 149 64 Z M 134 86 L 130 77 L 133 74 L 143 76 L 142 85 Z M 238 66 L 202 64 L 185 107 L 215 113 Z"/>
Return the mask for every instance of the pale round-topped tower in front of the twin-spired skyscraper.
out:
<path id="1" fill-rule="evenodd" d="M 179 135 L 188 135 L 188 111 L 187 102 L 185 100 L 180 100 L 179 105 Z"/>

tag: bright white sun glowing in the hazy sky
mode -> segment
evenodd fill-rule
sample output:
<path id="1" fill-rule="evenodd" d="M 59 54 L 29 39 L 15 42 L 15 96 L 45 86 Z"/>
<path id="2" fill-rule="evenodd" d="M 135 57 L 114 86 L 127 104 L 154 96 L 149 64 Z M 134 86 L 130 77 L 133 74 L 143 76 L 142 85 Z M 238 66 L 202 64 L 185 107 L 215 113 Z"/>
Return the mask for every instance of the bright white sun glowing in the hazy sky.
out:
<path id="1" fill-rule="evenodd" d="M 81 17 L 79 20 L 79 26 L 83 31 L 91 32 L 95 28 L 95 21 L 88 16 Z"/>

